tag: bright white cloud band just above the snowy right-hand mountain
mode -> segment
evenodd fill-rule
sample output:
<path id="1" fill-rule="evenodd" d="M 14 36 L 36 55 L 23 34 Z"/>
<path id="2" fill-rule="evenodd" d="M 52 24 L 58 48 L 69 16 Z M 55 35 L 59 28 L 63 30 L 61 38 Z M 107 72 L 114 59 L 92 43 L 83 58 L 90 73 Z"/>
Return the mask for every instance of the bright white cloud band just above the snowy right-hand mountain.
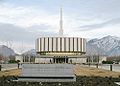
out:
<path id="1" fill-rule="evenodd" d="M 78 37 L 85 37 L 88 39 L 93 39 L 93 38 L 101 38 L 107 35 L 112 35 L 112 36 L 117 36 L 120 37 L 120 25 L 115 25 L 115 26 L 107 26 L 103 28 L 97 28 L 93 30 L 86 30 L 86 31 L 76 31 L 71 34 L 74 36 Z"/>

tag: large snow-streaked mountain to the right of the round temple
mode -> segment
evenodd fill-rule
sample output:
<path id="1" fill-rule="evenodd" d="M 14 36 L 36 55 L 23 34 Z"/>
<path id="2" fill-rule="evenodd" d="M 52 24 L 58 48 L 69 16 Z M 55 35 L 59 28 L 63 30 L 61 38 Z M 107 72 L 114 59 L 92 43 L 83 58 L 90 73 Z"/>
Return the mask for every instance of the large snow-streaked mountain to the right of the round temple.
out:
<path id="1" fill-rule="evenodd" d="M 87 54 L 120 55 L 120 38 L 109 35 L 101 39 L 92 39 L 87 42 Z"/>

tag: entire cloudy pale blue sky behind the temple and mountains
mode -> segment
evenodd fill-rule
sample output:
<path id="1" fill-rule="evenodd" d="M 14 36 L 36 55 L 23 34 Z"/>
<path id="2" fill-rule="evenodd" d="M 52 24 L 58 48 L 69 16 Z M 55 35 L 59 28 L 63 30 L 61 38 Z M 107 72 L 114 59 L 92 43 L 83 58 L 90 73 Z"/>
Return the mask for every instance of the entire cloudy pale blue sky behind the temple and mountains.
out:
<path id="1" fill-rule="evenodd" d="M 61 6 L 65 36 L 120 37 L 120 0 L 0 0 L 0 44 L 20 53 L 39 36 L 56 36 Z"/>

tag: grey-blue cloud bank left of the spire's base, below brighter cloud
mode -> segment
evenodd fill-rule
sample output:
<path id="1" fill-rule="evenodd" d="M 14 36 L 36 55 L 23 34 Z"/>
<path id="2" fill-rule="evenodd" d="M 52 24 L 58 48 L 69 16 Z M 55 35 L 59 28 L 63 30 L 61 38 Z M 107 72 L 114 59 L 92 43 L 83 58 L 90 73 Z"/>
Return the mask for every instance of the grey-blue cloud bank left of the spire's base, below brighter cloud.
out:
<path id="1" fill-rule="evenodd" d="M 12 39 L 12 40 L 25 40 L 30 42 L 36 36 L 52 36 L 56 33 L 52 32 L 51 27 L 47 25 L 36 25 L 29 28 L 23 28 L 15 26 L 13 24 L 0 23 L 0 38 L 1 39 Z"/>

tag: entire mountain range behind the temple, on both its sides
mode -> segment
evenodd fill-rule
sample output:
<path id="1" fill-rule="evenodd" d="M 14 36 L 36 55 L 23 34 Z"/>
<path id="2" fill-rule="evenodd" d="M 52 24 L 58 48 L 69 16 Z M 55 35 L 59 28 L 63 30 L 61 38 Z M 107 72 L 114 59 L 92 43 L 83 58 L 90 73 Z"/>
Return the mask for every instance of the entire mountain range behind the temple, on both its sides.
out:
<path id="1" fill-rule="evenodd" d="M 103 38 L 91 39 L 86 43 L 86 55 L 120 55 L 120 38 L 116 36 L 105 36 Z M 16 55 L 14 50 L 5 45 L 0 45 L 0 54 L 3 56 Z M 36 55 L 35 49 L 28 50 L 24 55 Z"/>

